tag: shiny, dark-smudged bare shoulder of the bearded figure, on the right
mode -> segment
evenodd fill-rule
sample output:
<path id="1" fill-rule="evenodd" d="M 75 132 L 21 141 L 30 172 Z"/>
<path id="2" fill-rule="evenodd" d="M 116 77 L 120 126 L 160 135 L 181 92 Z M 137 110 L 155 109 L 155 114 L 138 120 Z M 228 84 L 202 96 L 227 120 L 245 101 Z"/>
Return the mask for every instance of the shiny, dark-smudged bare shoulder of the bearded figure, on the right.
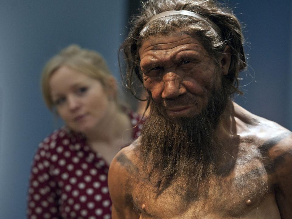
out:
<path id="1" fill-rule="evenodd" d="M 266 161 L 268 171 L 277 177 L 292 175 L 292 132 L 276 122 L 256 116 L 234 103 L 239 120 L 244 123 L 243 135 L 252 136 Z M 239 122 L 241 123 L 241 122 Z"/>

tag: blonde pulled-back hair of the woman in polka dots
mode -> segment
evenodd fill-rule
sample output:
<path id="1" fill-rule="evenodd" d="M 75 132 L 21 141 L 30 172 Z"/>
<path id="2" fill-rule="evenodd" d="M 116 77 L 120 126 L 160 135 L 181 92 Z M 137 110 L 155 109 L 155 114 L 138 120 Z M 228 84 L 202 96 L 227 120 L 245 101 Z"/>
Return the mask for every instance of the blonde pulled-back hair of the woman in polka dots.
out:
<path id="1" fill-rule="evenodd" d="M 53 110 L 54 103 L 50 96 L 49 82 L 53 73 L 61 66 L 68 66 L 91 78 L 99 80 L 105 89 L 109 87 L 109 79 L 113 78 L 101 54 L 82 49 L 74 44 L 64 48 L 47 62 L 41 75 L 43 99 L 50 110 Z M 116 100 L 116 96 L 114 99 Z"/>

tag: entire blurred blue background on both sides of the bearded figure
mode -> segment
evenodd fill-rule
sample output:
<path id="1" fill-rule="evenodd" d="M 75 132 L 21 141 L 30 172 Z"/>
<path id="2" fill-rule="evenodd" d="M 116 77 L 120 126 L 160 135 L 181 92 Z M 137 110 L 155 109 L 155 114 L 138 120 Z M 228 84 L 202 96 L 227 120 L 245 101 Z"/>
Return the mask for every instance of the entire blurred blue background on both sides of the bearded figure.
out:
<path id="1" fill-rule="evenodd" d="M 291 0 L 225 2 L 243 23 L 249 57 L 241 75 L 245 95 L 235 101 L 291 130 Z M 117 51 L 138 6 L 138 0 L 0 0 L 0 218 L 26 217 L 34 152 L 57 128 L 40 92 L 43 65 L 76 43 L 99 51 L 120 80 Z"/>

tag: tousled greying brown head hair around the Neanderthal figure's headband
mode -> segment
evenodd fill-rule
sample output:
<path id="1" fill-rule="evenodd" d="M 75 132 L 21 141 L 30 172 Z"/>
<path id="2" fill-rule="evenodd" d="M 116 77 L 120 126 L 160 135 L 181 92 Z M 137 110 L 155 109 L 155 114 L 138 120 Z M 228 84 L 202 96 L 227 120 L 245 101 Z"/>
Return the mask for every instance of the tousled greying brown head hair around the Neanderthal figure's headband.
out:
<path id="1" fill-rule="evenodd" d="M 184 15 L 167 16 L 147 24 L 156 14 L 171 10 L 198 13 L 215 23 L 220 29 L 219 33 L 212 29 L 210 21 Z M 227 86 L 229 95 L 242 94 L 238 89 L 238 75 L 239 71 L 246 68 L 244 38 L 240 22 L 227 7 L 213 0 L 149 0 L 141 2 L 140 14 L 130 20 L 130 25 L 129 35 L 121 45 L 119 53 L 124 54 L 127 64 L 126 75 L 122 75 L 124 84 L 134 96 L 137 93 L 137 79 L 141 82 L 140 86 L 143 84 L 139 55 L 143 41 L 151 36 L 166 36 L 178 32 L 196 37 L 214 58 L 215 63 L 228 45 L 231 51 L 231 64 L 228 75 L 222 79 L 223 85 Z"/>

